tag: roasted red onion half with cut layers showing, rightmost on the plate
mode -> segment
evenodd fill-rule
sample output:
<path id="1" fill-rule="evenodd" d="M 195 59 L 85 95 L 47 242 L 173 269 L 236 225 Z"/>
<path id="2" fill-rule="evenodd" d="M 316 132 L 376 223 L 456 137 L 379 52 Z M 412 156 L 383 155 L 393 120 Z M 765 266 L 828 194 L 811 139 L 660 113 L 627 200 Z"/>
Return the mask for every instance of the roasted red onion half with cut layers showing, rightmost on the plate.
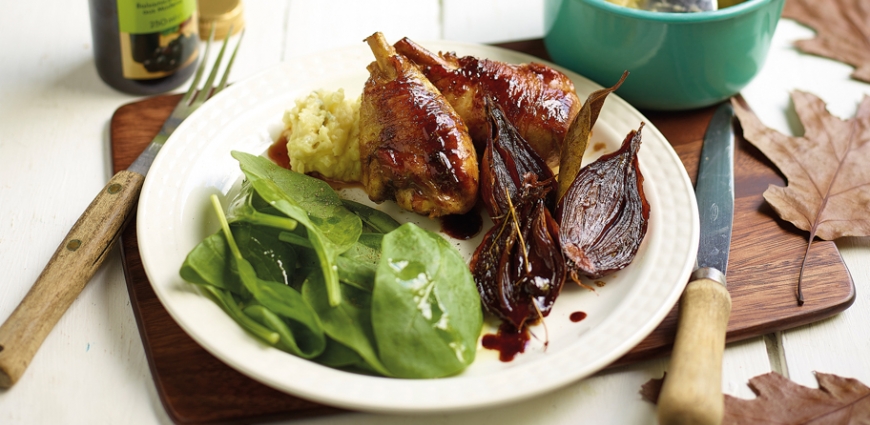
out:
<path id="1" fill-rule="evenodd" d="M 631 263 L 646 235 L 650 206 L 637 161 L 641 130 L 587 165 L 559 200 L 556 221 L 569 275 L 599 278 Z"/>

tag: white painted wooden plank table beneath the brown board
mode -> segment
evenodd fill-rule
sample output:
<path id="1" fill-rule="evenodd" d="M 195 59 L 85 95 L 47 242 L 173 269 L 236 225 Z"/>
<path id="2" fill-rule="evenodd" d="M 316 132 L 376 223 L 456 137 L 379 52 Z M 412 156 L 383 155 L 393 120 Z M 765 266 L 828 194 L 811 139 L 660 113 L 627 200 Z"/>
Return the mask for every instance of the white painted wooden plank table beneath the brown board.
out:
<path id="1" fill-rule="evenodd" d="M 39 275 L 59 241 L 108 180 L 108 122 L 137 98 L 102 83 L 93 64 L 87 3 L 0 1 L 0 321 Z M 247 0 L 247 35 L 234 80 L 271 65 L 382 31 L 390 39 L 501 42 L 543 35 L 541 0 Z M 743 91 L 761 119 L 800 133 L 789 91 L 815 93 L 851 117 L 870 85 L 851 68 L 797 52 L 812 32 L 783 20 L 761 74 Z M 723 390 L 752 397 L 749 378 L 782 367 L 816 387 L 812 371 L 870 384 L 870 238 L 837 242 L 857 287 L 833 318 L 730 344 Z M 777 344 L 777 342 L 779 342 Z M 768 353 L 773 355 L 769 358 Z M 777 354 L 779 353 L 779 354 Z M 780 357 L 781 355 L 781 357 Z M 771 359 L 773 361 L 771 361 Z M 638 389 L 667 359 L 608 370 L 545 396 L 492 410 L 424 417 L 350 414 L 297 421 L 400 424 L 652 424 Z M 522 383 L 517 383 L 522 385 Z M 21 381 L 0 390 L 0 423 L 168 423 L 113 252 L 48 336 Z"/>

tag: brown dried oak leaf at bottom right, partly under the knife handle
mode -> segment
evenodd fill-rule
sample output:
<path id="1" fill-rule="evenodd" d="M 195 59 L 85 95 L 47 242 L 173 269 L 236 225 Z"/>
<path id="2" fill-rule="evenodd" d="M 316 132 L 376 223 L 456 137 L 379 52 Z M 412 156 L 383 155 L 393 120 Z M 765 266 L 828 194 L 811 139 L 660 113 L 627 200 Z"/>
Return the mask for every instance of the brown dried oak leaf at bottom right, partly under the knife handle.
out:
<path id="1" fill-rule="evenodd" d="M 870 388 L 857 379 L 814 372 L 819 388 L 798 385 L 770 372 L 749 380 L 756 398 L 745 400 L 725 394 L 722 424 L 870 424 Z M 662 379 L 643 384 L 641 397 L 658 400 Z"/>

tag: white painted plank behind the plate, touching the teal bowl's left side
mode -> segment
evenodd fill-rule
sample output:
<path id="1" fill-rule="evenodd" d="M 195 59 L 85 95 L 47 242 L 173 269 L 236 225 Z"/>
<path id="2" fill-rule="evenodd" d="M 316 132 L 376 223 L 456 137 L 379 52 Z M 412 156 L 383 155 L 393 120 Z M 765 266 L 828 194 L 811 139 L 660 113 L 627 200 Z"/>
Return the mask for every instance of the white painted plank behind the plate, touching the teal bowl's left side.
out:
<path id="1" fill-rule="evenodd" d="M 444 0 L 444 38 L 475 43 L 544 36 L 543 0 Z"/>

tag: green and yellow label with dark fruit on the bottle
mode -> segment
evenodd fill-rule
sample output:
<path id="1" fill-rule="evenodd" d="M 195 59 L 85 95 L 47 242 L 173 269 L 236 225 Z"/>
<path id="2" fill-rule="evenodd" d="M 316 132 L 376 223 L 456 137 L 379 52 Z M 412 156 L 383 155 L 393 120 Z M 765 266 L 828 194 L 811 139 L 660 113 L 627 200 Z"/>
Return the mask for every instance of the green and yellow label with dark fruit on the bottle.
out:
<path id="1" fill-rule="evenodd" d="M 196 0 L 118 0 L 124 78 L 171 75 L 196 60 Z"/>

